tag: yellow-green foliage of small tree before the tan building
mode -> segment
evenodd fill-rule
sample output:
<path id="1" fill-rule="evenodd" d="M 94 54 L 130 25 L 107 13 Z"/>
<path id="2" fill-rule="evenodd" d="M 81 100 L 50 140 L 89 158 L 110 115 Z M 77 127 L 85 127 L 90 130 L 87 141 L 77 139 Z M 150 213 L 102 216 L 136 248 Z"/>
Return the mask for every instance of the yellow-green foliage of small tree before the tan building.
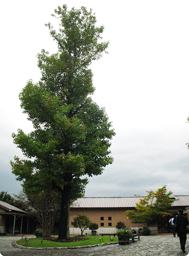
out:
<path id="1" fill-rule="evenodd" d="M 147 192 L 148 195 L 136 204 L 136 211 L 128 210 L 125 214 L 133 223 L 142 223 L 146 227 L 149 227 L 152 221 L 170 215 L 169 209 L 174 200 L 169 198 L 173 193 L 171 191 L 167 192 L 166 186 L 163 186 L 156 192 Z"/>

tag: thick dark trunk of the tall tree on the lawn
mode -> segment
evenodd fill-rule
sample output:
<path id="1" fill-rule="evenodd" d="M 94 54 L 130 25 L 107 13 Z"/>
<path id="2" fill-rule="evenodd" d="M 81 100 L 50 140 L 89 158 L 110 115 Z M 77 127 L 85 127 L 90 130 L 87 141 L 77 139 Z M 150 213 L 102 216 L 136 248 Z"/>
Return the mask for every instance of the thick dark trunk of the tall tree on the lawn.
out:
<path id="1" fill-rule="evenodd" d="M 70 217 L 70 198 L 71 185 L 64 185 L 61 192 L 61 209 L 60 209 L 60 223 L 58 239 L 69 239 L 69 217 Z"/>

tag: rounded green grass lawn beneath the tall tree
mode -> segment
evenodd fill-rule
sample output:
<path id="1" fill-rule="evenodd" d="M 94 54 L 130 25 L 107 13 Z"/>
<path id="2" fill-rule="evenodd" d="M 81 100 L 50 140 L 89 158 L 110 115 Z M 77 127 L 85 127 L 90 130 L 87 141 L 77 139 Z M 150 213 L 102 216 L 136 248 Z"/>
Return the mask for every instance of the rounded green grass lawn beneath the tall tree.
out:
<path id="1" fill-rule="evenodd" d="M 77 242 L 70 242 L 70 243 L 61 243 L 61 242 L 52 242 L 43 240 L 41 243 L 42 238 L 31 238 L 26 245 L 25 239 L 20 239 L 17 241 L 18 245 L 26 246 L 26 247 L 35 247 L 35 248 L 42 248 L 42 247 L 76 247 L 76 246 L 85 246 L 85 245 L 93 245 L 93 244 L 102 244 L 102 243 L 110 243 L 110 242 L 117 242 L 118 238 L 114 237 L 113 241 L 110 241 L 110 236 L 87 236 L 90 238 L 89 240 L 85 241 L 77 241 Z M 100 237 L 103 239 L 97 239 Z"/>

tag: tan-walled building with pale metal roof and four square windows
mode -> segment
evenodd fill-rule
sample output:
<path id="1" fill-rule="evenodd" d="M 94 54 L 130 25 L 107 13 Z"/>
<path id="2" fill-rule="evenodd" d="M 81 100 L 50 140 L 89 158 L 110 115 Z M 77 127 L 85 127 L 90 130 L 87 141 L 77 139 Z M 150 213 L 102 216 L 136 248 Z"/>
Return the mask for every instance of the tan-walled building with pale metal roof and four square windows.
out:
<path id="1" fill-rule="evenodd" d="M 132 230 L 139 230 L 143 224 L 134 224 L 125 215 L 126 210 L 135 210 L 136 204 L 144 196 L 124 196 L 124 197 L 82 197 L 77 199 L 70 207 L 70 234 L 79 235 L 80 230 L 73 228 L 71 222 L 77 214 L 85 214 L 92 222 L 99 225 L 99 234 L 117 233 L 117 222 L 122 221 Z M 189 195 L 172 195 L 174 199 L 170 212 L 176 215 L 178 209 L 182 208 L 189 218 Z M 169 223 L 153 223 L 152 233 L 168 232 Z M 90 230 L 86 231 L 88 234 Z"/>

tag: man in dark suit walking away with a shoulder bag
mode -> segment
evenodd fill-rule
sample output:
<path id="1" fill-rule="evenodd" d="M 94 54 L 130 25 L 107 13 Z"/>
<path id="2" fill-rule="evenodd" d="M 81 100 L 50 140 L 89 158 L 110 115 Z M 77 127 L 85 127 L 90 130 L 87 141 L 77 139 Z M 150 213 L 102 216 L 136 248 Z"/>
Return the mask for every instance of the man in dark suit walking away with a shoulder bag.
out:
<path id="1" fill-rule="evenodd" d="M 180 238 L 180 249 L 185 252 L 185 244 L 186 244 L 186 233 L 187 233 L 187 228 L 186 226 L 189 224 L 188 219 L 186 216 L 183 215 L 183 210 L 179 209 L 178 211 L 178 216 L 176 220 L 176 216 L 173 220 L 173 223 L 177 225 L 177 233 Z"/>

